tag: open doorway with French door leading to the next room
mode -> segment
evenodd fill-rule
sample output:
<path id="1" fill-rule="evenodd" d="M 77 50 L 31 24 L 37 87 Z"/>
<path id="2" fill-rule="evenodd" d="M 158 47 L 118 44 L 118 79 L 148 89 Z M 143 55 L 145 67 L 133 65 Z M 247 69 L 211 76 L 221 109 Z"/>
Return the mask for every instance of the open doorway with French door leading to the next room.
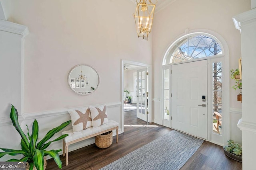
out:
<path id="1" fill-rule="evenodd" d="M 151 66 L 122 61 L 122 124 L 148 125 L 150 119 L 150 72 Z M 124 131 L 122 126 L 122 131 Z"/>

